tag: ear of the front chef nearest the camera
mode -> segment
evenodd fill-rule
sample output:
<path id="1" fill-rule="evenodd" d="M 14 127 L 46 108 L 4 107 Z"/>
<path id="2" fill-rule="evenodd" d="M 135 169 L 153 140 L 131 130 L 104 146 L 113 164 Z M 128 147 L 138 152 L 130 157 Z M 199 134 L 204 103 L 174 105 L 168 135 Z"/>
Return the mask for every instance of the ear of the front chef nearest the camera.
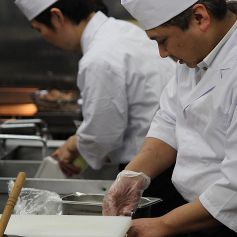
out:
<path id="1" fill-rule="evenodd" d="M 201 31 L 206 32 L 211 23 L 211 16 L 203 4 L 195 4 L 192 7 L 193 16 L 196 24 Z"/>

